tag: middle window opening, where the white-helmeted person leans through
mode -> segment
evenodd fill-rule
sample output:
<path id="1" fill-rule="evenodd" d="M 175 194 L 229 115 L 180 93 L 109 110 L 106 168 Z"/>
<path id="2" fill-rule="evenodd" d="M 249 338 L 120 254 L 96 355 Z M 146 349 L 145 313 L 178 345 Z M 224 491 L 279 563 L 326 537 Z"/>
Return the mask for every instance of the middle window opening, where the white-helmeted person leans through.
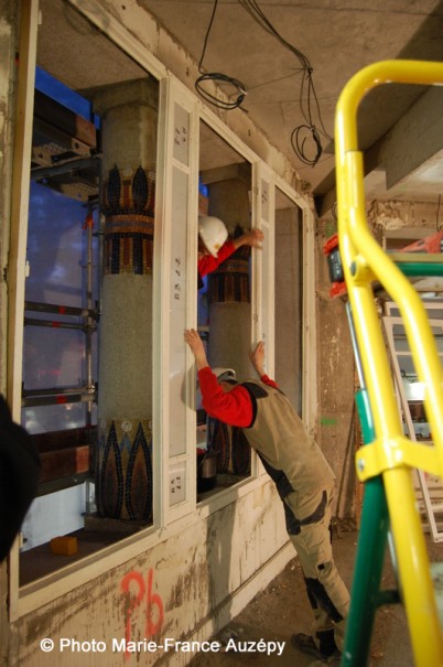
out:
<path id="1" fill-rule="evenodd" d="M 251 164 L 203 121 L 199 184 L 199 215 L 222 219 L 233 244 L 251 227 Z M 240 381 L 253 373 L 250 276 L 251 249 L 242 246 L 201 276 L 197 291 L 198 331 L 209 364 L 234 369 Z M 196 445 L 198 501 L 250 476 L 251 451 L 242 431 L 208 418 L 198 390 Z"/>

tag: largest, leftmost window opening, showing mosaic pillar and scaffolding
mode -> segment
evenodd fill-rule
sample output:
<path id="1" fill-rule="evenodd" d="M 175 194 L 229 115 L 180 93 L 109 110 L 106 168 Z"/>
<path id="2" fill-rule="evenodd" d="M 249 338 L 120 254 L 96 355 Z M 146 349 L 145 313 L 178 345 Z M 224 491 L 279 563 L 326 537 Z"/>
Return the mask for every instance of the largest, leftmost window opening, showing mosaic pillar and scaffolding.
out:
<path id="1" fill-rule="evenodd" d="M 152 325 L 159 84 L 68 3 L 41 10 L 22 423 L 42 475 L 22 526 L 21 584 L 153 521 L 152 343 L 131 332 L 137 308 L 143 331 Z M 125 302 L 117 324 L 104 299 L 115 311 Z M 137 386 L 139 368 L 149 387 Z M 132 397 L 131 408 L 118 402 L 128 377 L 142 395 L 132 412 Z M 75 537 L 75 549 L 54 548 L 58 537 Z"/>

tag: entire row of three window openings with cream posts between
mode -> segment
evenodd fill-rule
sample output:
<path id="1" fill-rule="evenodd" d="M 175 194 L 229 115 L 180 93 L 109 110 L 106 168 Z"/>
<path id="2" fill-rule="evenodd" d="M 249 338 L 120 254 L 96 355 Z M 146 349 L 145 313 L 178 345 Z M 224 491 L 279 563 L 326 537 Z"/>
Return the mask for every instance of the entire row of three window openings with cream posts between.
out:
<path id="1" fill-rule="evenodd" d="M 256 158 L 228 130 L 224 140 L 216 119 L 219 133 L 208 117 L 194 141 L 192 94 L 171 77 L 160 96 L 158 78 L 71 3 L 42 0 L 41 11 L 20 378 L 22 422 L 43 463 L 20 546 L 30 595 L 35 580 L 80 559 L 139 553 L 155 528 L 225 491 L 217 504 L 231 502 L 229 490 L 259 469 L 241 430 L 207 418 L 198 388 L 195 433 L 183 342 L 194 313 L 209 364 L 240 381 L 253 377 L 252 337 L 266 338 L 299 408 L 303 331 L 299 208 L 273 175 L 263 169 L 258 184 Z M 198 213 L 222 219 L 229 243 L 251 228 L 252 203 L 266 239 L 262 250 L 237 248 L 198 289 L 197 174 Z M 75 549 L 54 549 L 58 537 Z M 60 573 L 44 585 L 52 580 L 58 587 Z"/>

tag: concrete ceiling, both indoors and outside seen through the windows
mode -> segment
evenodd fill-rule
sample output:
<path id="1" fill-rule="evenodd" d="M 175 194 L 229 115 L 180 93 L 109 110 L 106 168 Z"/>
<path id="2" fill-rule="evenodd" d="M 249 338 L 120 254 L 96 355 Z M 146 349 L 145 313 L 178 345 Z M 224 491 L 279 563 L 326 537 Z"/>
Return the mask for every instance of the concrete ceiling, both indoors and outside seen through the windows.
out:
<path id="1" fill-rule="evenodd" d="M 355 73 L 377 61 L 443 61 L 443 0 L 255 0 L 283 43 L 247 11 L 253 0 L 218 0 L 216 6 L 215 1 L 132 0 L 196 64 L 204 53 L 202 72 L 242 83 L 247 94 L 240 108 L 311 186 L 318 213 L 326 213 L 335 202 L 332 137 L 343 87 Z M 145 77 L 144 69 L 68 3 L 41 0 L 41 8 L 37 63 L 69 88 L 91 97 L 97 87 Z M 306 123 L 300 104 L 303 93 L 306 110 L 306 88 L 301 92 L 294 50 L 313 69 L 318 100 L 320 112 L 311 97 L 312 122 L 323 151 L 314 166 L 303 163 L 291 146 L 294 130 Z M 222 88 L 237 98 L 233 86 Z M 439 200 L 443 191 L 442 110 L 443 87 L 391 84 L 364 98 L 358 139 L 365 150 L 368 198 Z M 242 161 L 215 132 L 203 129 L 201 139 L 202 169 Z M 315 154 L 311 136 L 305 154 Z M 205 164 L 206 155 L 210 155 L 210 164 Z"/>

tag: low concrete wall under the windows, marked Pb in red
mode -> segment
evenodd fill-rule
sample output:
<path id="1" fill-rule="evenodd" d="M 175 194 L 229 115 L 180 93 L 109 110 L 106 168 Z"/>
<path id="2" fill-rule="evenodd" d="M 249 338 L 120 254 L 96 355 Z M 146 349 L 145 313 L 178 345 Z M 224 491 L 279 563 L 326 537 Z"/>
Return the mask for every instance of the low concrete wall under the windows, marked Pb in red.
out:
<path id="1" fill-rule="evenodd" d="M 186 665 L 193 657 L 190 652 L 141 647 L 125 656 L 125 650 L 112 653 L 112 639 L 119 645 L 122 639 L 144 645 L 149 641 L 164 645 L 165 638 L 203 641 L 293 555 L 281 501 L 267 482 L 204 520 L 196 513 L 193 524 L 139 558 L 22 617 L 11 626 L 8 666 Z M 46 637 L 55 643 L 50 653 L 40 645 Z M 84 652 L 66 647 L 62 653 L 62 638 L 95 641 L 98 649 L 85 645 Z M 130 659 L 126 663 L 125 657 Z"/>

